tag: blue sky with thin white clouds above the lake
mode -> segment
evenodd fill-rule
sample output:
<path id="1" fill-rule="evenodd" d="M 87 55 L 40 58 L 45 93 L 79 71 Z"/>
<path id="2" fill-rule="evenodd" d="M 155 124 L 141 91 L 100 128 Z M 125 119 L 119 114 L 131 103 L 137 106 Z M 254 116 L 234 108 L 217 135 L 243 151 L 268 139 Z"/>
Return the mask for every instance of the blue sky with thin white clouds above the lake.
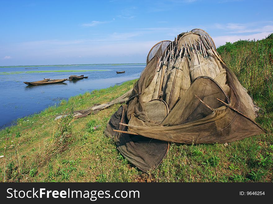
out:
<path id="1" fill-rule="evenodd" d="M 143 63 L 201 28 L 216 44 L 273 33 L 273 1 L 0 1 L 0 66 Z"/>

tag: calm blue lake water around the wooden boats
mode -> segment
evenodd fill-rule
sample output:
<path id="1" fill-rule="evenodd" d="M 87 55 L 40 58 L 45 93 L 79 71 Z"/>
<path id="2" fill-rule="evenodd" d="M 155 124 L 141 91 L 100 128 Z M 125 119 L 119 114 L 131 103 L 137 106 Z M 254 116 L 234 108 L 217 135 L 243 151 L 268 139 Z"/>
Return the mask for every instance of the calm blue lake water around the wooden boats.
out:
<path id="1" fill-rule="evenodd" d="M 15 123 L 18 118 L 38 113 L 71 96 L 137 79 L 145 66 L 146 64 L 98 64 L 0 67 L 0 129 Z M 116 71 L 125 73 L 117 74 Z M 23 83 L 43 78 L 66 79 L 70 75 L 84 75 L 88 78 L 38 86 Z"/>

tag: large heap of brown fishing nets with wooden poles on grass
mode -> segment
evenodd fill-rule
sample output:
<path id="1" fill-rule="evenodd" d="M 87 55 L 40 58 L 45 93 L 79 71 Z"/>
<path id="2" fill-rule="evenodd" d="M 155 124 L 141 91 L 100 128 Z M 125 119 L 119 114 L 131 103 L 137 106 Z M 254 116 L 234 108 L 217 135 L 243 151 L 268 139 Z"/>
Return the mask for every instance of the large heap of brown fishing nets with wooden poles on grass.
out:
<path id="1" fill-rule="evenodd" d="M 145 171 L 160 164 L 168 142 L 229 143 L 264 133 L 251 97 L 202 29 L 156 44 L 126 97 L 105 134 Z"/>

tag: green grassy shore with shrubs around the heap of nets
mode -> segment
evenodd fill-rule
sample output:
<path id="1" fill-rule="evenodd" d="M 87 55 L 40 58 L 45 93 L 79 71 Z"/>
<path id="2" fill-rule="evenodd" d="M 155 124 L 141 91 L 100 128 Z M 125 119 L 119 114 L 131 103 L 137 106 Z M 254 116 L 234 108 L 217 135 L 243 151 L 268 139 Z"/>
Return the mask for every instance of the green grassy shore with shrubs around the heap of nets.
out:
<path id="1" fill-rule="evenodd" d="M 71 97 L 59 107 L 49 107 L 40 114 L 18 120 L 16 126 L 1 130 L 0 156 L 4 157 L 0 158 L 0 181 L 272 182 L 271 40 L 259 44 L 230 43 L 231 49 L 227 49 L 230 46 L 227 43 L 218 50 L 261 108 L 256 121 L 267 134 L 228 144 L 172 143 L 159 168 L 143 173 L 129 164 L 119 154 L 114 141 L 103 134 L 107 121 L 120 104 L 76 120 L 69 114 L 111 101 L 132 88 L 136 81 L 132 80 Z M 68 116 L 54 121 L 60 114 Z M 95 130 L 96 125 L 100 127 Z"/>

